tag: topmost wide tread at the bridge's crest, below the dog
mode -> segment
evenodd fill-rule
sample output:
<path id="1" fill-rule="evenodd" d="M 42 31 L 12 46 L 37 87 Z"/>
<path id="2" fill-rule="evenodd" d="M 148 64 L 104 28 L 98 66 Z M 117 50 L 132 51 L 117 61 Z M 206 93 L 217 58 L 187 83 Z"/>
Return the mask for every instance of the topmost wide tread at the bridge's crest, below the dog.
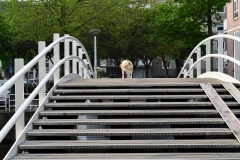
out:
<path id="1" fill-rule="evenodd" d="M 106 79 L 82 79 L 74 78 L 66 83 L 58 84 L 58 87 L 146 87 L 146 86 L 199 86 L 200 83 L 221 84 L 223 81 L 212 78 L 106 78 Z"/>

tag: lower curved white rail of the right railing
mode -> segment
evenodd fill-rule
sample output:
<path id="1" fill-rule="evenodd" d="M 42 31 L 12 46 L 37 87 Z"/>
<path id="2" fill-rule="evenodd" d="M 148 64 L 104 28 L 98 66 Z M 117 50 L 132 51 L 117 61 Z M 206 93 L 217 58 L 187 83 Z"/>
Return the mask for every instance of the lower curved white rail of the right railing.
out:
<path id="1" fill-rule="evenodd" d="M 234 62 L 235 64 L 239 65 L 240 66 L 240 61 L 236 60 L 235 58 L 232 58 L 230 56 L 226 56 L 226 55 L 222 55 L 222 54 L 209 54 L 209 55 L 206 55 L 206 56 L 203 56 L 201 58 L 199 58 L 190 68 L 189 70 L 187 71 L 187 73 L 184 75 L 184 78 L 187 77 L 187 75 L 189 74 L 189 72 L 193 69 L 193 67 L 195 67 L 198 62 L 206 59 L 206 58 L 209 58 L 209 57 L 217 57 L 217 58 L 225 58 L 225 59 L 228 59 L 232 62 Z"/>

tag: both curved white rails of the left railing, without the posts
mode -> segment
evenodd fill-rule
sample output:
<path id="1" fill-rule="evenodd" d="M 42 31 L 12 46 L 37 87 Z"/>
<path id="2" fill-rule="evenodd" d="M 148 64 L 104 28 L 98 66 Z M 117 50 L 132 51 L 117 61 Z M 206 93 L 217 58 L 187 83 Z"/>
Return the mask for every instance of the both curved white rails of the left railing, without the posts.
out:
<path id="1" fill-rule="evenodd" d="M 85 49 L 84 46 L 82 45 L 82 43 L 72 37 L 72 36 L 68 36 L 65 35 L 61 38 L 56 39 L 54 42 L 52 42 L 49 46 L 44 47 L 44 49 L 42 49 L 42 51 L 35 57 L 33 58 L 28 64 L 26 64 L 24 67 L 22 67 L 21 70 L 19 70 L 17 73 L 15 73 L 15 75 L 9 79 L 3 86 L 1 86 L 0 88 L 0 95 L 2 95 L 5 91 L 7 91 L 10 87 L 12 87 L 16 81 L 18 81 L 18 79 L 20 79 L 21 77 L 23 77 L 23 75 L 29 70 L 31 69 L 36 63 L 40 62 L 42 57 L 44 57 L 51 49 L 53 49 L 55 47 L 55 45 L 57 45 L 58 43 L 62 42 L 63 40 L 66 39 L 70 39 L 73 40 L 74 42 L 77 42 L 78 45 L 74 45 L 75 47 L 77 46 L 81 46 L 82 49 Z M 65 41 L 64 41 L 65 42 Z M 70 42 L 70 41 L 67 41 Z M 65 50 L 66 51 L 66 50 Z M 76 51 L 76 50 L 75 50 Z M 86 52 L 86 51 L 85 51 Z M 38 86 L 34 89 L 34 91 L 29 95 L 29 97 L 22 103 L 20 104 L 20 107 L 16 110 L 15 114 L 11 117 L 11 119 L 6 123 L 6 125 L 2 128 L 2 130 L 0 131 L 0 142 L 4 139 L 4 137 L 7 135 L 7 133 L 10 131 L 10 129 L 14 126 L 14 124 L 16 123 L 16 121 L 20 118 L 20 116 L 24 113 L 24 111 L 26 110 L 26 108 L 29 106 L 29 104 L 32 102 L 32 100 L 36 97 L 37 94 L 39 94 L 40 90 L 45 87 L 45 84 L 47 83 L 47 81 L 51 78 L 51 76 L 53 76 L 53 74 L 55 73 L 56 70 L 59 69 L 59 67 L 63 64 L 66 63 L 69 60 L 73 60 L 74 63 L 77 62 L 81 62 L 81 65 L 79 64 L 79 66 L 85 68 L 84 70 L 84 76 L 86 76 L 87 78 L 92 78 L 91 74 L 93 75 L 93 69 L 92 69 L 92 65 L 90 62 L 90 59 L 88 57 L 87 52 L 85 53 L 87 60 L 83 60 L 82 57 L 79 57 L 76 55 L 76 53 L 74 53 L 74 55 L 72 56 L 65 56 L 65 58 L 63 58 L 62 60 L 60 60 L 58 63 L 55 63 L 55 65 L 53 66 L 53 68 L 50 70 L 50 72 L 45 75 L 44 78 L 42 78 L 42 80 L 39 82 Z M 81 55 L 82 56 L 82 55 Z M 85 64 L 87 62 L 87 64 Z M 75 65 L 72 63 L 72 65 Z M 88 66 L 90 67 L 90 70 L 88 68 Z M 65 66 L 66 67 L 66 66 Z M 68 66 L 69 67 L 69 66 Z M 73 67 L 72 67 L 73 68 Z M 39 68 L 40 69 L 40 68 Z M 76 68 L 74 69 L 74 71 L 76 71 Z M 39 71 L 40 72 L 40 71 Z M 65 73 L 66 74 L 66 73 Z M 40 80 L 40 79 L 39 79 Z M 23 79 L 22 79 L 22 84 L 23 84 Z M 15 87 L 17 86 L 17 83 L 15 84 Z M 45 92 L 46 95 L 46 92 Z M 18 95 L 16 95 L 18 96 Z M 41 101 L 40 101 L 41 102 Z"/>

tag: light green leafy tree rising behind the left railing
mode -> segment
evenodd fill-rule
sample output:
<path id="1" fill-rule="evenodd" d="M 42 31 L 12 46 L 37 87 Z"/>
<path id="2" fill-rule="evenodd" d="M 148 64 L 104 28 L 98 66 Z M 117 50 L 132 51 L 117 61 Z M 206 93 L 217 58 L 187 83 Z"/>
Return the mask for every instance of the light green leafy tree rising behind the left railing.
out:
<path id="1" fill-rule="evenodd" d="M 4 22 L 10 26 L 12 59 L 32 59 L 37 54 L 37 41 L 52 42 L 53 33 L 80 37 L 95 28 L 102 17 L 129 0 L 8 0 L 3 5 Z M 28 53 L 29 58 L 26 57 Z M 3 55 L 1 54 L 0 57 Z M 51 58 L 52 54 L 49 54 Z"/>

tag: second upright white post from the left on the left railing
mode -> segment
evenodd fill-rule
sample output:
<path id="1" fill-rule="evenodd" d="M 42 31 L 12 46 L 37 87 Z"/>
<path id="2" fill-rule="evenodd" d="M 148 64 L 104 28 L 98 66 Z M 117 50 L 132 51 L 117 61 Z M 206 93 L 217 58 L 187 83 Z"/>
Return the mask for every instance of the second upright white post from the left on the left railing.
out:
<path id="1" fill-rule="evenodd" d="M 38 53 L 40 53 L 46 47 L 46 42 L 38 42 Z M 38 81 L 41 82 L 46 76 L 46 56 L 43 56 L 38 62 Z M 40 90 L 38 104 L 40 105 L 43 99 L 46 97 L 46 85 Z"/>

